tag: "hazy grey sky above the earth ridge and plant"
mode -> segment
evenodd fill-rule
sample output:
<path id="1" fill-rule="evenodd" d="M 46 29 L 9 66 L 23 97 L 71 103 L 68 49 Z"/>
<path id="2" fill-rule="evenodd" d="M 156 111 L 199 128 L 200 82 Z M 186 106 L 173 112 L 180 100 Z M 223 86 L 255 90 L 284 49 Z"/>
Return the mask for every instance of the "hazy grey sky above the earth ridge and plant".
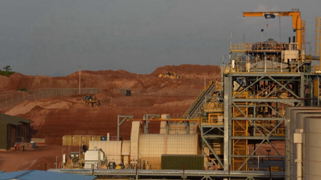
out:
<path id="1" fill-rule="evenodd" d="M 66 76 L 79 66 L 139 74 L 165 65 L 219 66 L 231 33 L 232 44 L 243 37 L 260 42 L 261 29 L 263 40 L 295 36 L 291 17 L 243 18 L 242 12 L 292 8 L 306 22 L 306 47 L 314 55 L 320 7 L 320 0 L 0 0 L 0 68 Z"/>

